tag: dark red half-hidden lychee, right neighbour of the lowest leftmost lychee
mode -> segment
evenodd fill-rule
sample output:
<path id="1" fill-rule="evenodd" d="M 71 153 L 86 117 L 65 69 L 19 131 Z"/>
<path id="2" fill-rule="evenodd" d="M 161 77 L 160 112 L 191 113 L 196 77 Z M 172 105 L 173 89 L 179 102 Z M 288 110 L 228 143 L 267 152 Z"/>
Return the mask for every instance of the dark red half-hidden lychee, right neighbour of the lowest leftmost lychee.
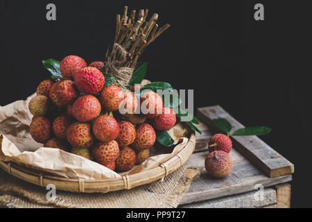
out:
<path id="1" fill-rule="evenodd" d="M 67 129 L 75 120 L 68 114 L 56 117 L 52 124 L 53 133 L 60 139 L 67 139 Z"/>

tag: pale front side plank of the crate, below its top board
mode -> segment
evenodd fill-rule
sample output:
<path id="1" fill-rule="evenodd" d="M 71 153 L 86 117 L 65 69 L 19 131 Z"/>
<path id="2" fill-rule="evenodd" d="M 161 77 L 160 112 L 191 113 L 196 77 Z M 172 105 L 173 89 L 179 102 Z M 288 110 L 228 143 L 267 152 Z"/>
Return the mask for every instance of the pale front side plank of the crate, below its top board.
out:
<path id="1" fill-rule="evenodd" d="M 250 191 L 243 194 L 235 194 L 205 200 L 197 203 L 179 205 L 180 208 L 259 208 L 276 205 L 277 193 L 275 189 L 265 188 L 259 196 L 259 191 Z"/>

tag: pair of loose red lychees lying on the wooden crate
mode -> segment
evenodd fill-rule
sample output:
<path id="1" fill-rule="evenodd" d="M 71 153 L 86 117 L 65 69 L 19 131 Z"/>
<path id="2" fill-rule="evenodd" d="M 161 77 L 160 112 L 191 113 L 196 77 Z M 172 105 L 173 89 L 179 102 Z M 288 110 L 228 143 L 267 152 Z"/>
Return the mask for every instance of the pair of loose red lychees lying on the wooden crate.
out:
<path id="1" fill-rule="evenodd" d="M 220 133 L 213 135 L 208 147 L 210 153 L 205 159 L 207 173 L 214 178 L 225 178 L 233 169 L 233 161 L 229 155 L 232 150 L 231 139 Z"/>

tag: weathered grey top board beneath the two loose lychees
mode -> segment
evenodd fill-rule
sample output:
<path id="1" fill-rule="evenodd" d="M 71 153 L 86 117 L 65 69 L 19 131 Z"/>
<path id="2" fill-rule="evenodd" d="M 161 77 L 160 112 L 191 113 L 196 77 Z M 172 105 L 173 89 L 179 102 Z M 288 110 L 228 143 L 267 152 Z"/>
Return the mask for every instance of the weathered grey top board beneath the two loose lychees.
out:
<path id="1" fill-rule="evenodd" d="M 239 153 L 235 147 L 229 153 L 234 164 L 232 173 L 223 179 L 209 177 L 205 170 L 205 157 L 209 153 L 207 143 L 214 131 L 202 122 L 198 128 L 202 130 L 202 135 L 196 134 L 196 150 L 201 152 L 193 153 L 186 164 L 192 167 L 202 167 L 202 171 L 200 171 L 200 178 L 191 183 L 191 187 L 182 198 L 180 205 L 242 194 L 254 191 L 259 187 L 271 187 L 292 180 L 291 174 L 269 178 Z"/>

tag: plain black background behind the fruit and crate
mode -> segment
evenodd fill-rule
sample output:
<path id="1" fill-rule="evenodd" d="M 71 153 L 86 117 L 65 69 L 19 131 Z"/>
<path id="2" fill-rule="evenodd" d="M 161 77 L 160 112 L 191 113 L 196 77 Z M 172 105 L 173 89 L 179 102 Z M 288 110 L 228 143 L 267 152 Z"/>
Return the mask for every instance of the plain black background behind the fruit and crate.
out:
<path id="1" fill-rule="evenodd" d="M 261 139 L 295 164 L 292 206 L 311 207 L 311 7 L 303 2 L 0 0 L 0 105 L 49 78 L 42 59 L 103 60 L 116 13 L 149 8 L 171 28 L 141 58 L 147 78 L 195 89 L 196 108 L 219 104 L 245 126 L 270 126 Z M 255 3 L 265 21 L 254 20 Z"/>

